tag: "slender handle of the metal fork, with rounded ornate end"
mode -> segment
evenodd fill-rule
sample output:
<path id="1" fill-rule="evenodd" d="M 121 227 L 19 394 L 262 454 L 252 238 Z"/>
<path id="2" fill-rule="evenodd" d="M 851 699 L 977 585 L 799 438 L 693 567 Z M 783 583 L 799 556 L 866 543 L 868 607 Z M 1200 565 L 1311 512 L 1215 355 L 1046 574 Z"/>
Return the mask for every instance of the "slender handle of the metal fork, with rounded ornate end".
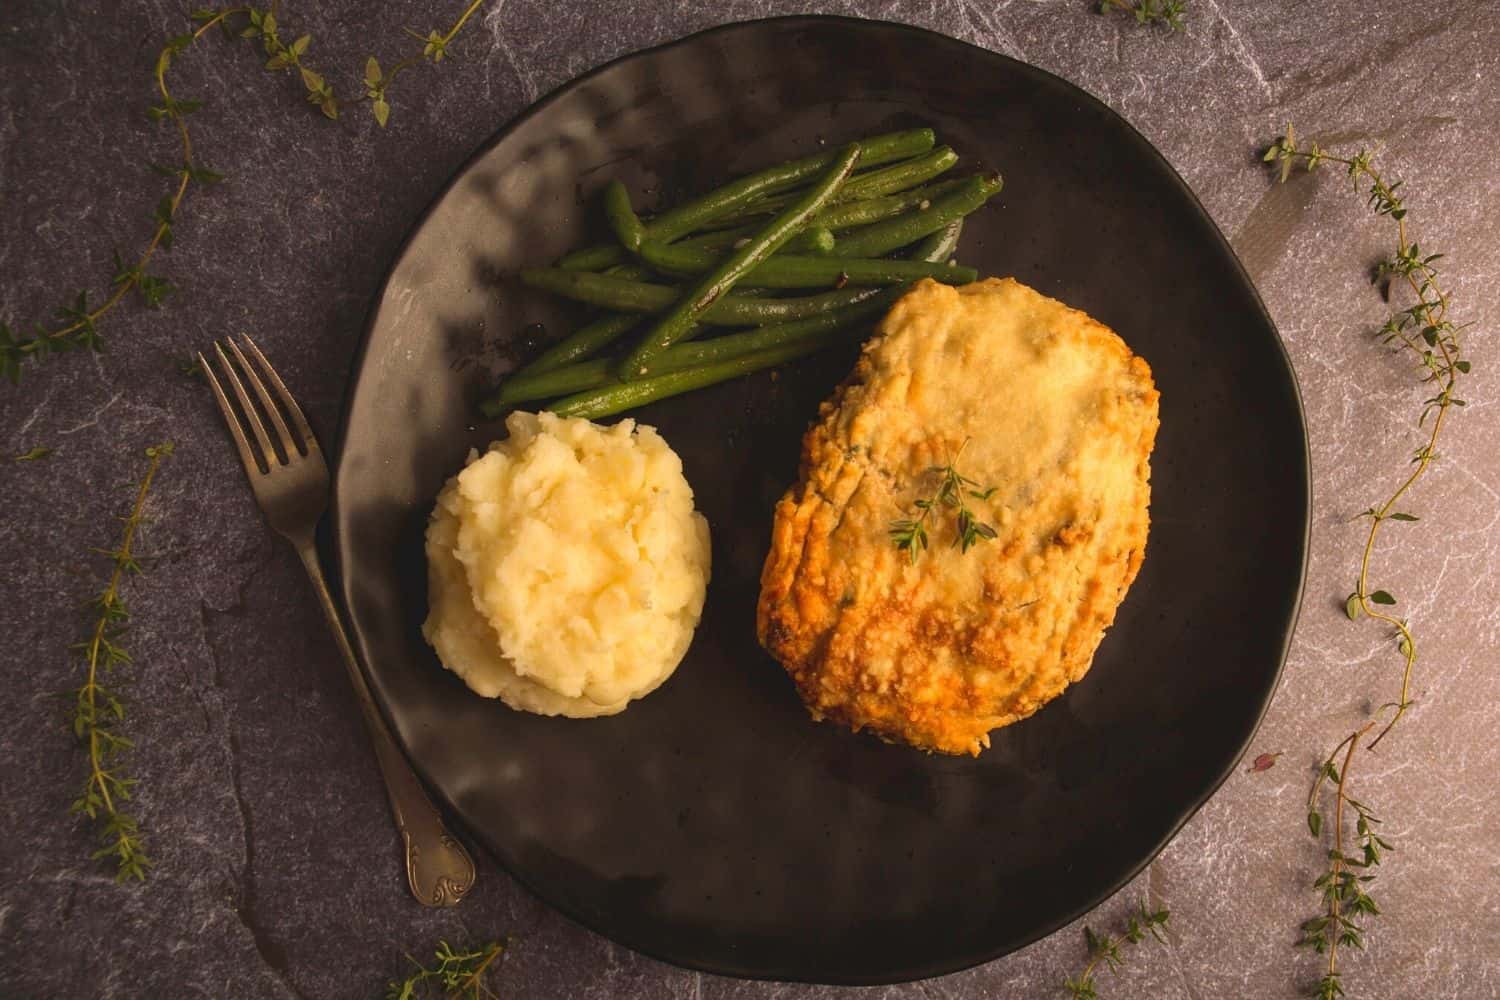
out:
<path id="1" fill-rule="evenodd" d="M 369 685 L 364 682 L 364 672 L 360 670 L 350 637 L 344 631 L 338 607 L 328 594 L 328 585 L 322 579 L 322 567 L 318 564 L 318 550 L 312 540 L 298 541 L 297 555 L 312 579 L 312 589 L 318 594 L 318 604 L 322 607 L 333 639 L 344 654 L 344 666 L 350 673 L 350 684 L 354 685 L 354 696 L 364 715 L 364 729 L 369 730 L 370 742 L 375 744 L 375 760 L 380 762 L 381 777 L 386 780 L 386 795 L 390 798 L 390 811 L 396 819 L 396 829 L 400 831 L 402 844 L 406 850 L 406 882 L 417 903 L 423 906 L 456 906 L 474 886 L 474 859 L 464 850 L 464 844 L 442 825 L 432 799 L 428 798 L 405 754 L 396 745 L 394 736 L 386 726 Z"/>

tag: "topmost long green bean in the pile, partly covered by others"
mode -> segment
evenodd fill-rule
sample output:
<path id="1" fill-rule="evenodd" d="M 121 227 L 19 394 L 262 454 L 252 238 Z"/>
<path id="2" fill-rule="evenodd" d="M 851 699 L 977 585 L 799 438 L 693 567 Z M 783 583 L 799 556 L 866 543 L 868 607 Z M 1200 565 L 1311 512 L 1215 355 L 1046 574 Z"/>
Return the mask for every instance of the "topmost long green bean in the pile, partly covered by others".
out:
<path id="1" fill-rule="evenodd" d="M 932 129 L 910 129 L 876 135 L 860 141 L 860 148 L 862 150 L 861 160 L 866 166 L 890 163 L 930 150 L 933 141 Z M 834 163 L 836 157 L 837 151 L 828 150 L 747 174 L 684 205 L 662 213 L 645 223 L 645 234 L 652 240 L 670 243 L 699 228 L 704 222 L 740 208 L 753 198 L 788 190 L 810 177 L 825 172 Z M 568 253 L 558 261 L 558 267 L 570 271 L 596 271 L 610 264 L 618 264 L 622 259 L 624 252 L 618 246 L 592 246 Z"/>

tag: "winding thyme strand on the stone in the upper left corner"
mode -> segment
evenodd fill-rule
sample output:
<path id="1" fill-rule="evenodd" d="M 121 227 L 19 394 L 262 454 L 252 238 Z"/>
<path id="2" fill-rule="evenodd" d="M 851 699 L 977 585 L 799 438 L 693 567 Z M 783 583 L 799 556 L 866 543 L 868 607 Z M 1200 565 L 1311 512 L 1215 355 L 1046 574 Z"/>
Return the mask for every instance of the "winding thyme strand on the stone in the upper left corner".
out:
<path id="1" fill-rule="evenodd" d="M 447 31 L 432 30 L 426 36 L 410 31 L 420 42 L 422 48 L 396 63 L 390 72 L 381 73 L 380 63 L 370 55 L 364 63 L 364 87 L 356 100 L 369 100 L 375 121 L 381 127 L 390 118 L 390 103 L 387 88 L 398 73 L 423 61 L 440 63 L 448 51 L 453 37 L 484 0 L 470 0 L 464 13 Z M 188 189 L 192 184 L 213 184 L 224 180 L 224 175 L 202 165 L 194 154 L 192 133 L 188 129 L 188 115 L 200 111 L 202 100 L 194 97 L 177 97 L 166 85 L 168 73 L 176 61 L 212 28 L 220 27 L 228 34 L 240 34 L 248 39 L 258 39 L 266 51 L 266 69 L 272 72 L 296 70 L 306 91 L 306 99 L 326 117 L 338 118 L 342 106 L 333 93 L 333 85 L 306 61 L 306 52 L 312 43 L 310 34 L 302 34 L 291 43 L 282 40 L 280 25 L 276 18 L 278 4 L 268 9 L 255 6 L 232 6 L 222 9 L 200 9 L 189 16 L 194 22 L 192 31 L 176 34 L 162 45 L 153 63 L 153 81 L 160 94 L 160 103 L 147 109 L 147 115 L 154 121 L 170 121 L 177 132 L 182 145 L 182 159 L 170 166 L 152 165 L 152 169 L 172 178 L 172 184 L 164 193 L 152 211 L 152 235 L 146 247 L 128 262 L 114 253 L 114 274 L 110 279 L 110 292 L 98 306 L 88 304 L 88 292 L 76 292 L 66 304 L 57 310 L 57 321 L 52 324 L 38 322 L 32 333 L 14 330 L 6 322 L 0 322 L 0 376 L 10 382 L 21 379 L 22 366 L 27 361 L 40 363 L 46 358 L 66 354 L 69 351 L 100 351 L 104 339 L 99 333 L 99 322 L 112 312 L 130 292 L 141 298 L 147 309 L 156 309 L 172 291 L 165 277 L 150 273 L 152 258 L 158 250 L 170 250 L 174 238 L 174 223 Z"/>

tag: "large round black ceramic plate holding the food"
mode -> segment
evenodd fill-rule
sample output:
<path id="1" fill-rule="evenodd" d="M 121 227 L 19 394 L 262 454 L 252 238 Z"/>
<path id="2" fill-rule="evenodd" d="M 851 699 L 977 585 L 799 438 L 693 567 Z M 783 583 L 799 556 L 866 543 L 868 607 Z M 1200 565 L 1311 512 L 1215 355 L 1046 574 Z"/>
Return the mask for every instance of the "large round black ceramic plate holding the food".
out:
<path id="1" fill-rule="evenodd" d="M 714 579 L 676 675 L 568 721 L 471 696 L 423 643 L 422 531 L 472 403 L 566 310 L 507 277 L 600 235 L 621 177 L 674 198 L 930 124 L 1005 192 L 962 256 L 1088 310 L 1156 375 L 1144 568 L 1088 678 L 933 757 L 808 720 L 754 639 L 771 507 L 852 351 L 638 417 L 681 453 Z M 1004 385 L 994 387 L 1004 393 Z M 338 469 L 344 598 L 418 771 L 543 900 L 650 955 L 738 976 L 886 982 L 994 958 L 1096 906 L 1239 760 L 1296 616 L 1306 438 L 1276 331 L 1182 180 L 1076 87 L 927 31 L 736 24 L 630 55 L 506 126 L 412 232 L 375 306 Z M 1004 429 L 996 429 L 1004 433 Z"/>

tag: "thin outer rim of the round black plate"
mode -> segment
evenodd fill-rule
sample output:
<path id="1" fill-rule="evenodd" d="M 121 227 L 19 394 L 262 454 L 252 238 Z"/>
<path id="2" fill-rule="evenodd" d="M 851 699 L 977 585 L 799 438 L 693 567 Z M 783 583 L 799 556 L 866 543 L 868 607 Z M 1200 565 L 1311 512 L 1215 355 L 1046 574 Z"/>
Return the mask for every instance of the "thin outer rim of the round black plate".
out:
<path id="1" fill-rule="evenodd" d="M 1164 175 L 1172 180 L 1179 193 L 1182 193 L 1186 198 L 1186 204 L 1191 205 L 1198 220 L 1204 223 L 1206 229 L 1212 234 L 1212 238 L 1218 241 L 1220 249 L 1226 253 L 1227 259 L 1233 265 L 1236 277 L 1239 277 L 1244 286 L 1250 291 L 1258 318 L 1263 321 L 1266 330 L 1270 333 L 1270 340 L 1276 348 L 1276 354 L 1274 357 L 1280 358 L 1281 361 L 1281 367 L 1286 373 L 1287 387 L 1290 388 L 1290 399 L 1296 411 L 1298 426 L 1302 430 L 1302 448 L 1300 453 L 1298 453 L 1298 457 L 1300 459 L 1299 472 L 1302 483 L 1302 492 L 1300 492 L 1302 531 L 1300 537 L 1298 537 L 1296 540 L 1300 549 L 1298 553 L 1300 568 L 1298 571 L 1296 586 L 1293 588 L 1288 600 L 1286 601 L 1286 607 L 1282 609 L 1281 618 L 1284 619 L 1284 630 L 1281 639 L 1281 649 L 1276 655 L 1275 670 L 1270 675 L 1269 684 L 1266 685 L 1266 691 L 1262 696 L 1260 703 L 1256 706 L 1254 718 L 1248 726 L 1244 739 L 1239 741 L 1240 745 L 1238 753 L 1233 754 L 1233 757 L 1227 762 L 1227 765 L 1222 768 L 1221 772 L 1214 775 L 1204 784 L 1203 792 L 1198 793 L 1192 801 L 1190 801 L 1186 807 L 1180 811 L 1180 814 L 1173 817 L 1167 832 L 1161 837 L 1161 840 L 1155 846 L 1150 847 L 1149 852 L 1144 853 L 1143 859 L 1137 865 L 1134 865 L 1118 880 L 1101 889 L 1095 895 L 1095 898 L 1076 907 L 1076 912 L 1065 913 L 1062 918 L 1040 924 L 1032 931 L 1005 940 L 988 949 L 966 952 L 948 961 L 928 961 L 928 963 L 914 964 L 910 967 L 904 967 L 898 975 L 882 973 L 874 976 L 832 976 L 832 978 L 814 979 L 812 976 L 759 972 L 742 967 L 734 967 L 730 964 L 716 964 L 712 961 L 696 961 L 690 958 L 674 957 L 658 951 L 650 940 L 642 940 L 632 934 L 616 934 L 616 931 L 614 930 L 604 930 L 594 921 L 588 919 L 578 907 L 555 903 L 552 898 L 549 898 L 548 894 L 542 892 L 532 883 L 531 877 L 526 873 L 512 868 L 504 861 L 501 861 L 496 852 L 489 849 L 489 846 L 484 843 L 484 837 L 480 835 L 472 828 L 470 828 L 470 825 L 464 820 L 462 813 L 454 807 L 454 804 L 448 799 L 448 796 L 444 795 L 441 787 L 428 777 L 426 769 L 422 766 L 420 760 L 411 753 L 405 741 L 402 741 L 400 732 L 393 723 L 390 706 L 381 696 L 380 687 L 374 684 L 370 670 L 366 666 L 370 660 L 370 651 L 368 649 L 364 633 L 356 625 L 356 619 L 350 612 L 352 595 L 348 588 L 348 577 L 344 571 L 351 546 L 350 546 L 350 538 L 344 531 L 344 520 L 345 514 L 348 513 L 348 508 L 345 501 L 342 499 L 340 486 L 344 481 L 344 471 L 345 471 L 344 459 L 348 444 L 350 417 L 354 406 L 354 397 L 358 391 L 358 384 L 362 381 L 360 373 L 364 370 L 364 363 L 366 363 L 366 355 L 369 352 L 372 333 L 375 330 L 375 324 L 380 319 L 381 304 L 386 300 L 386 292 L 390 285 L 390 280 L 396 274 L 396 271 L 402 267 L 402 264 L 406 261 L 406 256 L 411 252 L 411 246 L 416 241 L 417 234 L 422 232 L 422 229 L 428 225 L 435 208 L 442 202 L 444 198 L 447 198 L 448 192 L 465 175 L 468 175 L 472 166 L 478 163 L 482 159 L 484 159 L 490 153 L 490 150 L 504 142 L 516 127 L 519 127 L 524 121 L 528 121 L 536 115 L 544 112 L 554 102 L 560 100 L 574 87 L 584 85 L 596 79 L 597 76 L 602 76 L 614 70 L 615 67 L 636 58 L 658 55 L 675 48 L 682 48 L 702 42 L 704 39 L 717 34 L 754 30 L 766 25 L 777 25 L 788 28 L 834 27 L 842 30 L 849 30 L 849 28 L 864 30 L 873 27 L 880 30 L 891 30 L 896 34 L 908 34 L 912 37 L 920 37 L 922 40 L 936 42 L 939 45 L 956 45 L 963 49 L 969 49 L 968 54 L 975 55 L 978 58 L 988 58 L 988 60 L 996 60 L 999 63 L 1005 63 L 1008 64 L 1011 72 L 1030 75 L 1041 79 L 1042 82 L 1054 85 L 1060 84 L 1065 90 L 1076 94 L 1086 108 L 1096 112 L 1102 112 L 1114 118 L 1119 124 L 1125 126 L 1126 138 L 1134 141 L 1146 153 L 1148 159 L 1155 160 L 1156 166 L 1160 166 L 1164 171 Z M 1134 882 L 1142 871 L 1144 871 L 1152 862 L 1156 861 L 1156 858 L 1161 856 L 1161 852 L 1166 850 L 1173 840 L 1176 840 L 1176 837 L 1182 832 L 1182 828 L 1186 826 L 1188 820 L 1197 816 L 1197 813 L 1208 804 L 1208 801 L 1212 799 L 1218 793 L 1218 790 L 1224 786 L 1224 783 L 1228 781 L 1228 778 L 1239 769 L 1239 765 L 1245 759 L 1245 754 L 1250 750 L 1251 742 L 1254 742 L 1256 733 L 1260 730 L 1260 726 L 1266 720 L 1266 714 L 1270 709 L 1270 703 L 1275 700 L 1276 691 L 1281 688 L 1281 678 L 1286 672 L 1287 658 L 1292 651 L 1292 642 L 1296 636 L 1298 622 L 1302 613 L 1302 606 L 1306 592 L 1308 568 L 1311 561 L 1312 499 L 1314 499 L 1312 454 L 1311 454 L 1311 441 L 1308 436 L 1308 426 L 1306 426 L 1306 409 L 1304 406 L 1302 387 L 1298 381 L 1296 367 L 1292 363 L 1292 354 L 1287 349 L 1286 339 L 1281 336 L 1281 330 L 1276 327 L 1275 319 L 1270 316 L 1270 310 L 1266 309 L 1266 304 L 1260 297 L 1260 289 L 1256 286 L 1256 282 L 1245 270 L 1244 261 L 1240 261 L 1239 255 L 1234 252 L 1234 247 L 1230 244 L 1222 229 L 1220 229 L 1218 223 L 1214 220 L 1214 216 L 1209 214 L 1208 208 L 1203 207 L 1203 202 L 1198 199 L 1192 187 L 1186 183 L 1186 180 L 1184 180 L 1184 177 L 1178 172 L 1178 169 L 1172 165 L 1172 162 L 1167 160 L 1167 157 L 1155 147 L 1155 144 L 1152 144 L 1150 139 L 1148 139 L 1124 114 L 1108 106 L 1106 102 L 1102 102 L 1100 97 L 1084 90 L 1082 85 L 1040 66 L 1034 66 L 1030 63 L 1014 58 L 1004 52 L 996 52 L 993 49 L 984 48 L 982 45 L 975 45 L 974 42 L 968 42 L 964 39 L 954 37 L 951 34 L 944 34 L 942 31 L 934 31 L 932 28 L 921 27 L 916 24 L 908 24 L 903 21 L 891 21 L 884 18 L 861 18 L 861 16 L 832 15 L 832 13 L 792 13 L 792 15 L 776 15 L 776 16 L 752 18 L 744 21 L 726 21 L 714 24 L 706 28 L 693 31 L 690 34 L 682 34 L 678 37 L 668 39 L 664 42 L 658 42 L 656 45 L 650 45 L 646 48 L 632 49 L 628 52 L 615 55 L 614 58 L 609 58 L 608 61 L 603 61 L 588 69 L 584 73 L 579 73 L 576 76 L 572 76 L 560 82 L 558 85 L 552 87 L 548 93 L 542 94 L 530 105 L 518 111 L 514 115 L 507 118 L 504 124 L 501 124 L 495 132 L 488 135 L 464 159 L 464 162 L 453 169 L 453 174 L 442 183 L 438 192 L 426 202 L 426 205 L 423 205 L 420 213 L 416 216 L 416 219 L 406 229 L 405 235 L 402 237 L 396 252 L 390 258 L 384 276 L 380 280 L 380 286 L 376 288 L 374 297 L 370 298 L 370 304 L 366 309 L 364 322 L 360 330 L 358 345 L 356 346 L 356 351 L 350 358 L 350 375 L 346 376 L 344 394 L 339 405 L 339 424 L 336 432 L 336 441 L 338 444 L 334 450 L 333 475 L 330 480 L 330 504 L 328 504 L 328 519 L 327 519 L 328 544 L 324 546 L 326 550 L 332 550 L 332 558 L 326 558 L 324 564 L 330 565 L 333 570 L 334 574 L 333 592 L 339 604 L 339 612 L 344 618 L 346 631 L 350 633 L 350 639 L 354 646 L 356 660 L 358 661 L 360 672 L 364 676 L 368 687 L 370 688 L 370 694 L 378 706 L 378 711 L 381 712 L 381 717 L 384 718 L 387 727 L 392 732 L 392 736 L 396 739 L 398 745 L 402 750 L 402 754 L 406 757 L 406 762 L 411 765 L 412 771 L 422 780 L 428 792 L 442 805 L 447 819 L 462 826 L 464 832 L 468 835 L 466 840 L 470 843 L 483 847 L 483 853 L 486 855 L 486 858 L 489 858 L 489 861 L 496 868 L 502 870 L 510 879 L 516 880 L 516 883 L 525 888 L 528 894 L 536 897 L 548 909 L 561 913 L 564 918 L 573 921 L 580 927 L 588 928 L 591 933 L 598 934 L 606 940 L 630 948 L 632 951 L 640 955 L 645 955 L 648 958 L 652 958 L 656 961 L 678 969 L 690 969 L 694 972 L 704 972 L 718 976 L 732 976 L 748 981 L 804 982 L 804 984 L 819 984 L 819 985 L 894 985 L 894 984 L 916 982 L 921 979 L 932 979 L 938 976 L 946 976 L 988 964 L 992 961 L 1004 958 L 1005 955 L 1017 952 L 1029 945 L 1034 945 L 1035 942 L 1040 942 L 1041 939 L 1058 933 L 1059 930 L 1072 924 L 1078 918 L 1092 913 L 1100 906 L 1107 903 L 1120 889 Z M 328 555 L 328 552 L 326 552 L 324 555 Z"/>

